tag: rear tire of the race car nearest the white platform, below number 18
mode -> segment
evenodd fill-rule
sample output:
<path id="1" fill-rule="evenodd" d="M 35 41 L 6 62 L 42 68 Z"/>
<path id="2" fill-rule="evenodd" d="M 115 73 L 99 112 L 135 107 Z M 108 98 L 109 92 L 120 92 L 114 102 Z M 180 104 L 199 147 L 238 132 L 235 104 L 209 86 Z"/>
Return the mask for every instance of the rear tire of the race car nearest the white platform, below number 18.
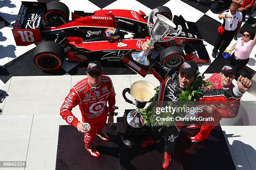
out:
<path id="1" fill-rule="evenodd" d="M 64 62 L 64 49 L 56 42 L 44 41 L 34 50 L 34 63 L 42 70 L 57 70 Z"/>

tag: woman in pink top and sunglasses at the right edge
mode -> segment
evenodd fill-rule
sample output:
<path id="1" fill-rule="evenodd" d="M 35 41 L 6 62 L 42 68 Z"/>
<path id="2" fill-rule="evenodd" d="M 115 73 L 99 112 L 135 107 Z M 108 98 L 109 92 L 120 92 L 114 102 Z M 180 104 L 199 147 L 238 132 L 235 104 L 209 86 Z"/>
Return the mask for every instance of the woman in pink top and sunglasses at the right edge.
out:
<path id="1" fill-rule="evenodd" d="M 249 61 L 251 50 L 256 44 L 256 35 L 251 40 L 251 32 L 246 30 L 243 37 L 239 38 L 229 51 L 235 50 L 231 56 L 230 64 L 236 67 L 236 72 L 243 68 Z"/>

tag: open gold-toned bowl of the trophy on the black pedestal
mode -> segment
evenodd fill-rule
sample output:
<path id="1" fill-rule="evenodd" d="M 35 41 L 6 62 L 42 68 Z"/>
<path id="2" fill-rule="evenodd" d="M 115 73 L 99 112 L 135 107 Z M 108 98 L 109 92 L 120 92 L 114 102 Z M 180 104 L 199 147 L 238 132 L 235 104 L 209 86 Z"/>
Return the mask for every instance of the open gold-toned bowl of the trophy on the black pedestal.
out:
<path id="1" fill-rule="evenodd" d="M 139 101 L 149 101 L 155 94 L 154 85 L 146 80 L 133 82 L 131 85 L 131 95 Z"/>

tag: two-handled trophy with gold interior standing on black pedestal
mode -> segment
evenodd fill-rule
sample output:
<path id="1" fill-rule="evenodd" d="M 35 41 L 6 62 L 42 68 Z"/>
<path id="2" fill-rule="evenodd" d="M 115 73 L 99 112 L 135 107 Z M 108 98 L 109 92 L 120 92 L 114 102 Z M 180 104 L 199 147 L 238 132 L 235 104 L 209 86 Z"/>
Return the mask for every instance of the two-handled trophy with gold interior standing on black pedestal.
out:
<path id="1" fill-rule="evenodd" d="M 125 88 L 123 90 L 123 98 L 126 102 L 136 105 L 136 110 L 132 110 L 128 113 L 126 120 L 133 128 L 141 128 L 144 124 L 143 117 L 140 115 L 140 109 L 144 108 L 147 102 L 155 95 L 154 85 L 151 82 L 145 80 L 139 80 L 131 85 L 131 88 Z M 135 99 L 135 103 L 129 100 L 125 93 L 128 92 Z"/>

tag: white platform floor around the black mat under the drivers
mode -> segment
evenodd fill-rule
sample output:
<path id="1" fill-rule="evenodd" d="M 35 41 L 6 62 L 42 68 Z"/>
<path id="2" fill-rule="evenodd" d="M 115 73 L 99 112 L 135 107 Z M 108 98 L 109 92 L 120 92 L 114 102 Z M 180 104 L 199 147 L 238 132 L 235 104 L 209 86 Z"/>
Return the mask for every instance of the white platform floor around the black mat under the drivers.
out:
<path id="1" fill-rule="evenodd" d="M 133 108 L 123 99 L 124 88 L 143 79 L 159 85 L 152 75 L 146 78 L 140 75 L 110 77 L 115 87 L 118 116 L 123 116 L 125 109 Z M 3 110 L 0 115 L 0 160 L 26 160 L 25 170 L 55 169 L 59 125 L 67 125 L 59 110 L 70 88 L 82 78 L 84 76 L 12 77 L 2 88 L 8 96 L 0 103 Z M 77 107 L 73 113 L 81 120 Z M 237 169 L 255 170 L 256 126 L 222 126 L 222 129 Z"/>

